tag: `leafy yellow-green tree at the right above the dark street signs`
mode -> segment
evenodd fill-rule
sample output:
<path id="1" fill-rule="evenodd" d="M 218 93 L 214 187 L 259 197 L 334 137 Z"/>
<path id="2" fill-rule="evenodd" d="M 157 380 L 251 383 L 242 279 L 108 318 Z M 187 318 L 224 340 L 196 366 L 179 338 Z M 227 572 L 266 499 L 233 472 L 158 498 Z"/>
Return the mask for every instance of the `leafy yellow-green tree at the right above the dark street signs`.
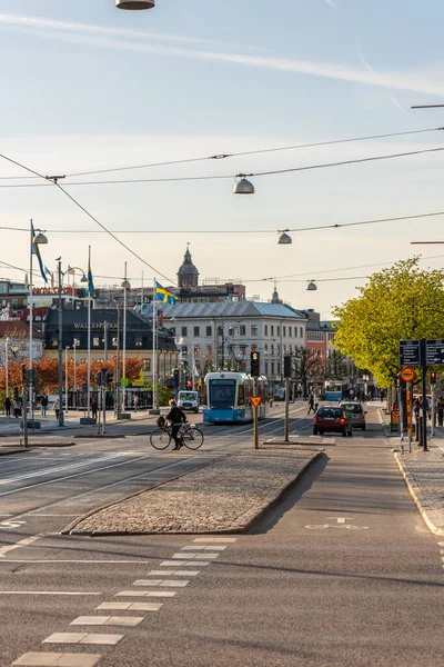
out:
<path id="1" fill-rule="evenodd" d="M 423 270 L 420 258 L 373 273 L 360 296 L 334 309 L 336 348 L 367 368 L 380 387 L 400 370 L 400 340 L 444 338 L 444 272 Z"/>

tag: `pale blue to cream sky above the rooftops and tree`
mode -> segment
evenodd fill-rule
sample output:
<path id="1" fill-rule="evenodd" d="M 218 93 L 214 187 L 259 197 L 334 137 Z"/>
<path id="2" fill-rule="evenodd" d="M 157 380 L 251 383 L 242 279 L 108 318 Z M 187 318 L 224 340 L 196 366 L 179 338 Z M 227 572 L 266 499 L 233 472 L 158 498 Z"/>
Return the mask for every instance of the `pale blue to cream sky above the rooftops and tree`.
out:
<path id="1" fill-rule="evenodd" d="M 444 108 L 411 109 L 444 102 L 440 0 L 12 6 L 0 0 L 0 153 L 43 176 L 444 127 Z M 190 242 L 202 280 L 242 279 L 249 296 L 270 299 L 272 278 L 282 299 L 327 319 L 383 266 L 417 253 L 424 268 L 443 266 L 444 247 L 411 242 L 441 240 L 444 216 L 301 230 L 291 246 L 278 230 L 444 211 L 444 151 L 258 176 L 254 196 L 234 196 L 234 177 L 434 148 L 444 131 L 60 181 L 129 249 L 1 158 L 0 228 L 32 218 L 51 270 L 59 256 L 87 269 L 91 246 L 97 285 L 120 283 L 125 262 L 134 287 L 142 272 L 145 286 L 174 285 Z M 131 179 L 152 180 L 98 183 Z M 23 279 L 29 235 L 0 229 L 0 277 Z M 312 279 L 317 291 L 306 291 Z"/>

